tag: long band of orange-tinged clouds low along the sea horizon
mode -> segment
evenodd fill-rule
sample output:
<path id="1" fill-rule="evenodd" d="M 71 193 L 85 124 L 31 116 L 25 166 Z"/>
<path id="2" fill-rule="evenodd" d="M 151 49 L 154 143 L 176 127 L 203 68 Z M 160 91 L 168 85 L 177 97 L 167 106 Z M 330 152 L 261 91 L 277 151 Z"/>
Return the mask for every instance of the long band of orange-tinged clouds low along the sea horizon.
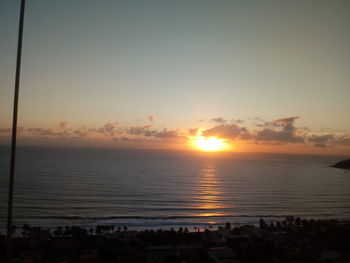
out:
<path id="1" fill-rule="evenodd" d="M 156 142 L 156 143 L 186 143 L 189 136 L 196 136 L 201 132 L 203 136 L 215 136 L 226 140 L 241 140 L 255 144 L 287 144 L 298 143 L 314 147 L 335 147 L 350 146 L 350 136 L 340 132 L 328 131 L 321 134 L 312 134 L 307 127 L 297 127 L 295 122 L 299 116 L 278 118 L 272 121 L 265 121 L 261 118 L 254 118 L 259 125 L 243 127 L 240 123 L 243 120 L 232 119 L 228 123 L 222 117 L 206 121 L 206 125 L 213 125 L 206 128 L 174 128 L 167 129 L 164 126 L 154 127 L 152 125 L 122 126 L 118 122 L 107 122 L 100 127 L 86 127 L 80 125 L 71 127 L 67 121 L 61 121 L 52 128 L 18 127 L 21 136 L 31 138 L 64 138 L 81 139 L 91 141 L 121 141 L 121 142 Z M 148 116 L 148 120 L 154 120 Z M 264 122 L 262 122 L 264 121 Z M 150 123 L 151 124 L 151 123 Z M 153 124 L 153 123 L 152 123 Z M 10 136 L 11 128 L 0 128 L 1 137 Z"/>

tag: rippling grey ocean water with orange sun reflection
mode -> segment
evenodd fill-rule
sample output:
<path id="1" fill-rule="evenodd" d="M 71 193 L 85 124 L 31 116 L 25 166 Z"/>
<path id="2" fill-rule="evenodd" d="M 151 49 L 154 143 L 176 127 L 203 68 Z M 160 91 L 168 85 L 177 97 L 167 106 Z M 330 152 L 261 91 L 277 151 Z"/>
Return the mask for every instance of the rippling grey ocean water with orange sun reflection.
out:
<path id="1" fill-rule="evenodd" d="M 345 158 L 345 157 L 344 157 Z M 339 156 L 19 147 L 14 223 L 131 229 L 350 219 Z M 0 229 L 9 147 L 0 147 Z"/>

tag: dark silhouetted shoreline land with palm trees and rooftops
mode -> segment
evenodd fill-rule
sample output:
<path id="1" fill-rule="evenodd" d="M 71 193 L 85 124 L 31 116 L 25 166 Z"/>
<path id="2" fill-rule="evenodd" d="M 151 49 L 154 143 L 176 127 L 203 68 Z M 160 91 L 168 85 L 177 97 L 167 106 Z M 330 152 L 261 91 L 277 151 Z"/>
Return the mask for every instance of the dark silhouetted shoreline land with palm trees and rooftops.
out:
<path id="1" fill-rule="evenodd" d="M 0 237 L 2 262 L 4 236 Z M 57 228 L 24 225 L 13 239 L 14 262 L 350 262 L 350 222 L 288 217 L 260 226 L 229 223 L 217 230 L 129 231 L 98 226 Z M 1 262 L 1 260 L 0 260 Z"/>

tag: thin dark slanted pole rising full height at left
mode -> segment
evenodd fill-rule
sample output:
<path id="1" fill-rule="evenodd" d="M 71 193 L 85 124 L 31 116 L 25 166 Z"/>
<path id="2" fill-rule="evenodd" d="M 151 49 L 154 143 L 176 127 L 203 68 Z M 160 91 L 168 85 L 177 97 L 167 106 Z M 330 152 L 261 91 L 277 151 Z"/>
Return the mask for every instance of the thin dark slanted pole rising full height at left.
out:
<path id="1" fill-rule="evenodd" d="M 20 73 L 21 73 L 24 6 L 25 6 L 25 0 L 21 0 L 21 13 L 19 17 L 18 44 L 17 44 L 15 95 L 14 95 L 14 102 L 13 102 L 11 163 L 10 163 L 10 180 L 9 180 L 8 210 L 7 210 L 7 260 L 9 263 L 12 262 L 12 247 L 11 247 L 12 208 L 13 208 L 15 163 L 16 163 L 17 112 L 18 112 L 19 80 L 20 80 Z"/>

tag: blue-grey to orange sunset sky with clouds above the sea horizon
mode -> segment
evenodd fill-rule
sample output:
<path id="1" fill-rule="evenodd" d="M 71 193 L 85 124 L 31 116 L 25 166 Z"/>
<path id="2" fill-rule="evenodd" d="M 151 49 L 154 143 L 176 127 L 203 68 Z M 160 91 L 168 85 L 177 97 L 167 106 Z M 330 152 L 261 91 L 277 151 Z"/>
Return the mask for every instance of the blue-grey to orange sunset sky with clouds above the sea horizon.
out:
<path id="1" fill-rule="evenodd" d="M 19 0 L 0 2 L 0 143 Z M 350 154 L 350 2 L 27 0 L 19 143 Z"/>

